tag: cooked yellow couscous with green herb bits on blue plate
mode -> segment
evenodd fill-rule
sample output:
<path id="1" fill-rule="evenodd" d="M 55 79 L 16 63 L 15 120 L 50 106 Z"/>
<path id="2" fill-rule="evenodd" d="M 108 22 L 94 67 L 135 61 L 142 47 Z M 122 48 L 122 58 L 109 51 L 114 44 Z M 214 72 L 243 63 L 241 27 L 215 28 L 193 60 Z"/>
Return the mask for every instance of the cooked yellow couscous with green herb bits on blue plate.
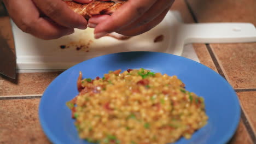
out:
<path id="1" fill-rule="evenodd" d="M 190 139 L 207 123 L 203 98 L 177 76 L 127 69 L 82 80 L 80 73 L 77 85 L 80 93 L 67 106 L 89 142 L 166 144 Z"/>

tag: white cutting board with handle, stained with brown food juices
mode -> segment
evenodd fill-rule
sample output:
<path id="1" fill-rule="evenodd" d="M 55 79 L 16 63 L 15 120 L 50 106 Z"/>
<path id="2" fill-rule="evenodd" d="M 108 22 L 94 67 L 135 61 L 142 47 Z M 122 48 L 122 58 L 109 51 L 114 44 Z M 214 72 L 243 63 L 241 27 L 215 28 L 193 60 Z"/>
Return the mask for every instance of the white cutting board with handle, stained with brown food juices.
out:
<path id="1" fill-rule="evenodd" d="M 13 26 L 18 69 L 67 69 L 96 56 L 126 51 L 156 51 L 181 56 L 188 43 L 243 43 L 256 41 L 251 23 L 184 24 L 179 13 L 169 11 L 165 19 L 149 32 L 128 40 L 112 37 L 94 39 L 94 29 L 75 29 L 75 33 L 56 40 L 41 40 Z M 154 43 L 154 39 L 164 39 Z M 66 45 L 61 49 L 61 45 Z M 67 47 L 69 45 L 69 47 Z M 82 49 L 77 47 L 82 45 Z"/>

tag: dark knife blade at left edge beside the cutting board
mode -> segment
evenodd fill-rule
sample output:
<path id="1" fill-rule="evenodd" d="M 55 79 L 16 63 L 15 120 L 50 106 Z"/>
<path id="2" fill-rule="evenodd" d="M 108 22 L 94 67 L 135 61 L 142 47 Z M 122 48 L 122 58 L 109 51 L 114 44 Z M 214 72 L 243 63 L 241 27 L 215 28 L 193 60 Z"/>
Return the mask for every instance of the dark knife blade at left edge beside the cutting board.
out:
<path id="1" fill-rule="evenodd" d="M 13 33 L 7 10 L 0 1 L 0 74 L 16 78 L 16 56 Z"/>

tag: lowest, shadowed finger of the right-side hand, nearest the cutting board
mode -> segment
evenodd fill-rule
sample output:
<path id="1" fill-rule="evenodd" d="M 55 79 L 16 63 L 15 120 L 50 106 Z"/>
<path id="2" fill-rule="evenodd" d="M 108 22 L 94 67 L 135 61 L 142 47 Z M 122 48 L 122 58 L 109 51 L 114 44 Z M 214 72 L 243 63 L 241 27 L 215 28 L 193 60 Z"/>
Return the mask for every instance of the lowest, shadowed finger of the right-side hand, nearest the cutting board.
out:
<path id="1" fill-rule="evenodd" d="M 168 10 L 169 9 L 165 9 L 162 12 L 162 14 L 160 14 L 153 21 L 150 21 L 146 25 L 143 25 L 141 27 L 137 27 L 135 29 L 131 29 L 129 31 L 118 31 L 117 33 L 131 37 L 131 36 L 135 36 L 135 35 L 139 35 L 139 34 L 148 32 L 150 29 L 154 28 L 156 25 L 158 25 L 165 18 L 165 15 L 168 13 Z"/>

